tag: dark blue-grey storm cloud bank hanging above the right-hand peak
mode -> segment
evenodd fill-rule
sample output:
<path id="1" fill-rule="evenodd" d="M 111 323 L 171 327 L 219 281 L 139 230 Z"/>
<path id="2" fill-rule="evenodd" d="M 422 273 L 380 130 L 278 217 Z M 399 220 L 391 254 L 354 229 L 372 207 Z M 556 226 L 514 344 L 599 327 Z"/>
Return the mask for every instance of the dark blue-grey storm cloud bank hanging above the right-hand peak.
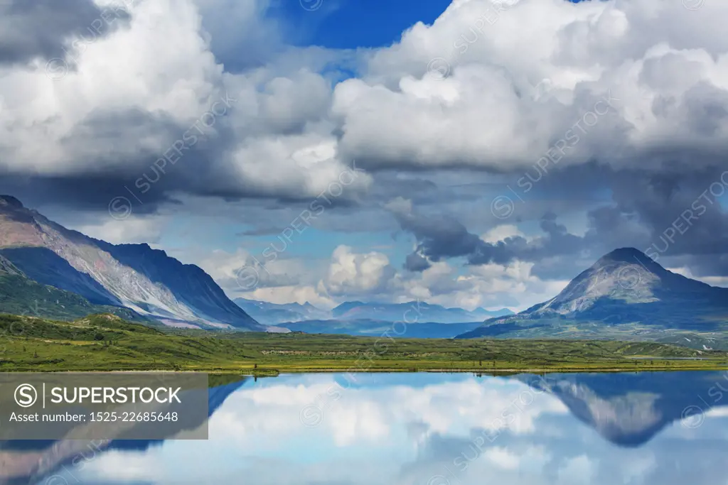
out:
<path id="1" fill-rule="evenodd" d="M 611 193 L 610 200 L 587 212 L 588 227 L 581 236 L 569 233 L 551 211 L 540 216 L 535 239 L 515 236 L 497 243 L 483 241 L 453 215 L 392 212 L 403 231 L 415 236 L 419 255 L 432 261 L 464 257 L 469 264 L 481 265 L 522 260 L 534 262 L 533 273 L 540 278 L 563 279 L 575 276 L 606 252 L 634 246 L 663 265 L 686 265 L 696 276 L 728 275 L 728 213 L 724 209 L 728 164 L 693 171 L 676 166 L 660 173 L 566 169 L 555 172 L 542 187 L 537 185 L 521 204 L 538 211 L 539 197 L 558 191 L 578 201 L 575 194 L 583 187 L 574 185 L 570 172 L 579 173 L 589 193 Z"/>

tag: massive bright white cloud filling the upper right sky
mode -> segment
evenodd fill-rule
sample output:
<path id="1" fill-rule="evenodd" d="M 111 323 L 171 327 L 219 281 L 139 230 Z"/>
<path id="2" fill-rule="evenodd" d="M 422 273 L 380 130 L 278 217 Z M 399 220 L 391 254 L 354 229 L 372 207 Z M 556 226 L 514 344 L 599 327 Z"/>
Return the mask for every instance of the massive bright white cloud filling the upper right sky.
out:
<path id="1" fill-rule="evenodd" d="M 380 164 L 512 171 L 567 133 L 561 166 L 597 156 L 655 168 L 668 159 L 636 153 L 659 143 L 725 148 L 728 119 L 703 110 L 724 106 L 728 94 L 728 45 L 716 20 L 728 5 L 689 12 L 660 0 L 521 0 L 492 24 L 478 20 L 488 9 L 490 0 L 451 5 L 374 52 L 362 79 L 339 84 L 341 151 Z M 448 74 L 440 81 L 425 73 L 437 58 Z M 610 92 L 618 100 L 608 105 Z"/>

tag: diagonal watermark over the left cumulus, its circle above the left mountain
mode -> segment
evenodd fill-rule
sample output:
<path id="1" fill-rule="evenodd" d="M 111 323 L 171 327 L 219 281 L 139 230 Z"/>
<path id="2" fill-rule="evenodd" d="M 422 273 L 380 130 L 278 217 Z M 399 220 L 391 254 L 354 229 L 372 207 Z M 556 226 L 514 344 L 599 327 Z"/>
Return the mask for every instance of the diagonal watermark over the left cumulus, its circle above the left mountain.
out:
<path id="1" fill-rule="evenodd" d="M 221 95 L 220 99 L 210 105 L 210 109 L 202 113 L 202 116 L 199 116 L 180 138 L 175 140 L 167 150 L 162 152 L 162 155 L 149 166 L 149 170 L 134 181 L 135 191 L 132 191 L 127 185 L 124 185 L 124 188 L 139 206 L 144 204 L 141 196 L 151 191 L 152 185 L 162 180 L 162 177 L 167 175 L 167 170 L 174 167 L 178 161 L 181 161 L 186 155 L 186 152 L 197 145 L 200 137 L 205 136 L 205 130 L 214 127 L 218 118 L 226 116 L 236 101 L 237 99 L 231 97 L 228 92 L 225 95 Z M 108 203 L 108 214 L 115 220 L 126 220 L 133 212 L 132 199 L 126 196 L 114 197 Z"/>

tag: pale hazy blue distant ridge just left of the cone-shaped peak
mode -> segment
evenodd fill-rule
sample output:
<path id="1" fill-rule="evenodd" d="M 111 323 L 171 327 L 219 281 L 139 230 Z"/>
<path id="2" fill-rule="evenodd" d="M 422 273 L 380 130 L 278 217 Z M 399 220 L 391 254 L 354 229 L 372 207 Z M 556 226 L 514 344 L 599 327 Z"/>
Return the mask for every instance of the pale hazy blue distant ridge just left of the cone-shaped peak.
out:
<path id="1" fill-rule="evenodd" d="M 512 311 L 505 308 L 496 311 L 488 311 L 483 308 L 467 311 L 462 308 L 445 308 L 424 302 L 344 302 L 331 310 L 331 318 L 335 320 L 407 321 L 412 323 L 418 321 L 438 324 L 462 324 L 512 314 Z"/>

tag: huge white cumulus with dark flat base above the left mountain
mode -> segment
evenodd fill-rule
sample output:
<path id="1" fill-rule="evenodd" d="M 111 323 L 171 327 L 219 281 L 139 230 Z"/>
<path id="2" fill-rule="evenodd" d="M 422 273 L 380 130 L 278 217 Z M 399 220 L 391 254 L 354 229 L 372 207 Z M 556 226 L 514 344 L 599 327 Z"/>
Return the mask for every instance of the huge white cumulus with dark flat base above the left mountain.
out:
<path id="1" fill-rule="evenodd" d="M 352 161 L 339 157 L 324 119 L 328 81 L 303 66 L 226 72 L 211 39 L 223 51 L 255 50 L 262 33 L 226 39 L 226 25 L 250 23 L 265 4 L 235 7 L 224 23 L 213 14 L 221 3 L 137 0 L 127 25 L 106 36 L 64 34 L 71 44 L 54 65 L 38 57 L 23 68 L 0 67 L 0 90 L 13 93 L 0 110 L 6 183 L 30 176 L 56 196 L 62 191 L 67 203 L 100 209 L 110 188 L 127 197 L 131 190 L 146 204 L 142 212 L 173 191 L 292 200 L 336 183 Z M 47 17 L 46 9 L 23 12 L 36 22 Z M 341 197 L 352 197 L 367 179 L 360 173 Z M 74 197 L 66 185 L 82 190 Z"/>

